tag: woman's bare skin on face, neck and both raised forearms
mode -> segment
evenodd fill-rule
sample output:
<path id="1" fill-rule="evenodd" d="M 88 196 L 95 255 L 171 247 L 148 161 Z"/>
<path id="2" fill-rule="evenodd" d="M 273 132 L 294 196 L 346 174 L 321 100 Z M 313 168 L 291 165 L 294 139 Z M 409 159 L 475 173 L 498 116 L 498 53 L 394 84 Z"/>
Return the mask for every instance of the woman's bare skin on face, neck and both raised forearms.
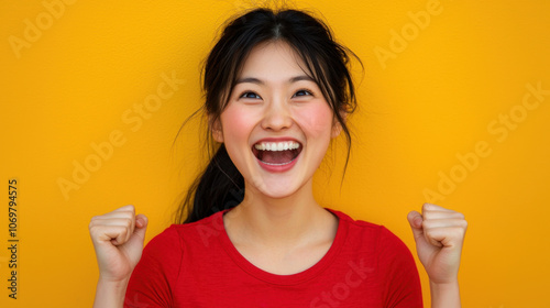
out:
<path id="1" fill-rule="evenodd" d="M 238 84 L 212 125 L 215 140 L 226 144 L 245 180 L 244 200 L 223 217 L 228 235 L 252 264 L 280 275 L 316 264 L 338 228 L 338 219 L 316 202 L 312 177 L 341 127 L 315 81 L 289 81 L 307 76 L 302 67 L 286 43 L 257 45 L 240 75 L 256 81 Z M 293 138 L 302 145 L 287 172 L 263 169 L 251 150 L 258 140 L 274 136 Z M 431 307 L 461 307 L 458 271 L 468 228 L 464 216 L 425 204 L 421 213 L 411 211 L 407 218 L 430 278 Z M 122 307 L 146 226 L 146 217 L 135 216 L 133 206 L 91 219 L 100 270 L 94 307 Z"/>

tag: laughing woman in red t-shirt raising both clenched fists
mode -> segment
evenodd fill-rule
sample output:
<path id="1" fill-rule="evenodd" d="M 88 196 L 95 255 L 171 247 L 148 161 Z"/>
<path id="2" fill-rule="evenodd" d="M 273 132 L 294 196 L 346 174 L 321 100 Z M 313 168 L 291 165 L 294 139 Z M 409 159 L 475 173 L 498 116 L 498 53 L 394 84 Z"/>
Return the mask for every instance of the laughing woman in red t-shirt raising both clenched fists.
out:
<path id="1" fill-rule="evenodd" d="M 205 66 L 217 152 L 179 223 L 143 256 L 147 219 L 133 206 L 92 218 L 95 307 L 422 307 L 406 245 L 314 198 L 331 140 L 343 132 L 351 145 L 350 54 L 301 11 L 256 9 L 230 21 Z M 432 307 L 460 307 L 463 215 L 425 204 L 408 220 Z"/>

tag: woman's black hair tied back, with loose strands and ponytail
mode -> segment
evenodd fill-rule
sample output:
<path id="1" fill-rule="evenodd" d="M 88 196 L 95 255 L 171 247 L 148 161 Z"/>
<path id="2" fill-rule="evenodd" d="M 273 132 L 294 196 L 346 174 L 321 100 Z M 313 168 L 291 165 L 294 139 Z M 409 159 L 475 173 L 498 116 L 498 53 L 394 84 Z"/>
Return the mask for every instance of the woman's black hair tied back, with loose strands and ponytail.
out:
<path id="1" fill-rule="evenodd" d="M 205 102 L 189 118 L 199 111 L 208 117 L 207 142 L 211 160 L 178 206 L 175 223 L 198 221 L 220 210 L 233 208 L 243 200 L 244 178 L 231 162 L 226 146 L 213 142 L 211 127 L 226 108 L 252 48 L 260 43 L 272 41 L 289 44 L 304 61 L 310 77 L 318 84 L 334 111 L 334 119 L 340 123 L 348 143 L 345 173 L 351 150 L 351 135 L 345 119 L 356 108 L 354 85 L 349 70 L 349 54 L 360 63 L 361 59 L 334 41 L 329 26 L 322 20 L 306 11 L 253 9 L 226 23 L 221 37 L 205 62 Z"/>

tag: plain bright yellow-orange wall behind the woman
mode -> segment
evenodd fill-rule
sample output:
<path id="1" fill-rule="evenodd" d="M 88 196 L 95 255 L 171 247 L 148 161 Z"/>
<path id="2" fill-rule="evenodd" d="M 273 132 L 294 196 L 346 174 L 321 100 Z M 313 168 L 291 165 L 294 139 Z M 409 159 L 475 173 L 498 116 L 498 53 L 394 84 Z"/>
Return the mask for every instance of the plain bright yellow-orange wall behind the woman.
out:
<path id="1" fill-rule="evenodd" d="M 433 201 L 462 211 L 463 306 L 550 307 L 550 2 L 296 2 L 322 12 L 366 68 L 352 161 L 341 189 L 342 153 L 323 165 L 318 178 L 333 170 L 316 186 L 323 205 L 387 226 L 411 250 L 409 210 Z M 91 305 L 95 215 L 135 205 L 150 217 L 147 241 L 170 223 L 201 157 L 198 122 L 170 148 L 200 103 L 199 63 L 217 26 L 250 3 L 1 1 L 1 307 Z M 430 19 L 419 26 L 415 15 Z M 182 84 L 155 100 L 173 75 Z M 11 178 L 16 300 L 7 288 Z M 74 183 L 66 193 L 64 180 Z"/>

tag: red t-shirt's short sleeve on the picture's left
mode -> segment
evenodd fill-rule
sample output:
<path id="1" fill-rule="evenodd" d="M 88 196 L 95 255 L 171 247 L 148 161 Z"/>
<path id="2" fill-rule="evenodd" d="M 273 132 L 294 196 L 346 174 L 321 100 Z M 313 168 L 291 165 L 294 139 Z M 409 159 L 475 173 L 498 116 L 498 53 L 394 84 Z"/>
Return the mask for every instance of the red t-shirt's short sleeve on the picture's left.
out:
<path id="1" fill-rule="evenodd" d="M 178 278 L 183 250 L 174 226 L 154 237 L 128 283 L 124 308 L 173 307 L 173 288 Z"/>

